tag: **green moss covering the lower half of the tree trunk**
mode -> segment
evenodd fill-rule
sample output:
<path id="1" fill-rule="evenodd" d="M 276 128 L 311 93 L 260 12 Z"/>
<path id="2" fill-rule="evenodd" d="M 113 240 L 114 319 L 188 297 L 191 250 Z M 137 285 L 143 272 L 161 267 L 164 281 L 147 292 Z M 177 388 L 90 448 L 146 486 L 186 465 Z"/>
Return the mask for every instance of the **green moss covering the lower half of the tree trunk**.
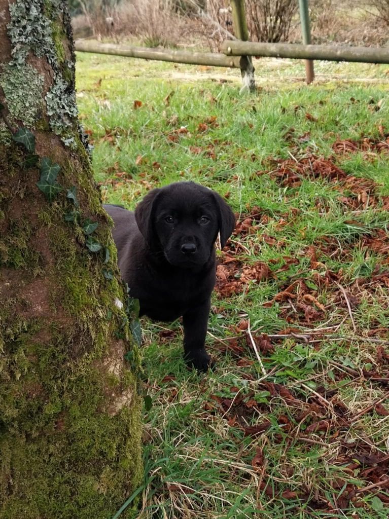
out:
<path id="1" fill-rule="evenodd" d="M 48 308 L 58 320 L 29 317 L 28 297 L 6 299 L 0 311 L 4 519 L 111 519 L 142 477 L 139 352 L 132 346 L 130 371 L 128 346 L 115 345 L 126 317 L 115 305 L 123 289 L 117 277 L 103 278 L 102 258 L 72 239 L 72 226 L 56 220 L 61 210 L 60 203 L 41 210 L 54 261 L 43 277 L 25 278 L 28 287 L 57 286 Z M 26 222 L 18 228 L 26 234 L 12 253 L 26 265 L 31 236 Z M 114 251 L 108 229 L 99 239 Z"/>

